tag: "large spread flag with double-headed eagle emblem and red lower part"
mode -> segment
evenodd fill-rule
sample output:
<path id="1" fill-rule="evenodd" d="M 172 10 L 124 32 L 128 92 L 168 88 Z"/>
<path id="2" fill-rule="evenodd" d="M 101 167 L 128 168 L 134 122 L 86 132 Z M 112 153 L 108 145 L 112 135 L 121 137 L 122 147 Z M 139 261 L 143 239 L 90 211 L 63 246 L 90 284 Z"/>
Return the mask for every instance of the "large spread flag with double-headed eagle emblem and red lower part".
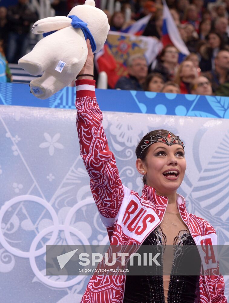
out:
<path id="1" fill-rule="evenodd" d="M 104 47 L 95 54 L 95 65 L 98 72 L 106 72 L 108 85 L 114 88 L 118 79 L 127 75 L 130 56 L 142 54 L 150 65 L 161 49 L 162 43 L 156 38 L 110 31 Z"/>

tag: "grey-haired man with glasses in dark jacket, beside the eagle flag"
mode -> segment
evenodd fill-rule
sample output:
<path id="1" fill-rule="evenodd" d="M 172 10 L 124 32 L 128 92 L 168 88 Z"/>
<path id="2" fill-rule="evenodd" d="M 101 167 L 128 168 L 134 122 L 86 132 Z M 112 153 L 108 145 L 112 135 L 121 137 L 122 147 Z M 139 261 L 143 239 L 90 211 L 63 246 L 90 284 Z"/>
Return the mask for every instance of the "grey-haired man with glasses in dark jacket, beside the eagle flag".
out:
<path id="1" fill-rule="evenodd" d="M 129 77 L 119 78 L 115 88 L 142 91 L 148 72 L 146 58 L 139 54 L 132 55 L 127 61 L 127 72 Z"/>

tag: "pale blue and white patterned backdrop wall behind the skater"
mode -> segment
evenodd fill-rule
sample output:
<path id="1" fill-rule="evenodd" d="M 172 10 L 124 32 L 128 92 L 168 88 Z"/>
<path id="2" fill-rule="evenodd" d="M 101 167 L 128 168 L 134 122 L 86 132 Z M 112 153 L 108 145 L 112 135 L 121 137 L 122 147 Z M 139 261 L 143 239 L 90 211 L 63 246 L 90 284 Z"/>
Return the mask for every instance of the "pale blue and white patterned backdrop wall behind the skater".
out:
<path id="1" fill-rule="evenodd" d="M 123 184 L 139 193 L 143 183 L 134 153 L 139 139 L 159 128 L 182 138 L 187 171 L 178 192 L 189 212 L 216 228 L 218 244 L 229 244 L 228 120 L 103 114 Z M 75 120 L 71 109 L 0 106 L 1 302 L 80 302 L 90 277 L 45 276 L 45 245 L 108 243 L 79 156 Z M 229 277 L 224 278 L 228 296 Z"/>

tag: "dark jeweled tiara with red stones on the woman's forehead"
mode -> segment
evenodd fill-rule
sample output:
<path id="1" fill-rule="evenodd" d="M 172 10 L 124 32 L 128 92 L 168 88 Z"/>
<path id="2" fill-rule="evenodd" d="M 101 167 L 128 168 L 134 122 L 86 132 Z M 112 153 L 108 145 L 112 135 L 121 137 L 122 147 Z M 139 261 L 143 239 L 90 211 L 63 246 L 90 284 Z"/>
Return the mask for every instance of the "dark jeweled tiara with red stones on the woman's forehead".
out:
<path id="1" fill-rule="evenodd" d="M 170 138 L 171 138 L 171 140 L 168 142 L 168 139 L 170 139 Z M 155 136 L 151 135 L 149 139 L 144 140 L 143 145 L 140 146 L 142 150 L 139 154 L 139 157 L 142 154 L 142 151 L 144 151 L 146 148 L 148 148 L 153 143 L 157 143 L 157 142 L 163 142 L 168 146 L 171 146 L 174 144 L 179 144 L 185 149 L 184 142 L 182 142 L 178 136 L 172 137 L 172 135 L 170 133 L 166 134 L 165 136 L 156 134 Z"/>

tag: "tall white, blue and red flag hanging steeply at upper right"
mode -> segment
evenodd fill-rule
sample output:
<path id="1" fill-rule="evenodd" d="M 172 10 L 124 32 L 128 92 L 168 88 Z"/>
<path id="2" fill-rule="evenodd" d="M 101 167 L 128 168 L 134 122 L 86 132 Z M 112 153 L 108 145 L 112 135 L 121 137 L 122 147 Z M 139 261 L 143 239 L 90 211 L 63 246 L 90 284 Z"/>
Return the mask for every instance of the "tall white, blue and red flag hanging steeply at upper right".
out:
<path id="1" fill-rule="evenodd" d="M 185 42 L 181 38 L 181 35 L 178 31 L 178 28 L 172 18 L 172 15 L 169 11 L 169 8 L 165 2 L 162 0 L 163 3 L 163 26 L 162 26 L 162 44 L 165 47 L 167 44 L 174 45 L 179 54 L 179 62 L 182 62 L 184 57 L 190 54 Z"/>

